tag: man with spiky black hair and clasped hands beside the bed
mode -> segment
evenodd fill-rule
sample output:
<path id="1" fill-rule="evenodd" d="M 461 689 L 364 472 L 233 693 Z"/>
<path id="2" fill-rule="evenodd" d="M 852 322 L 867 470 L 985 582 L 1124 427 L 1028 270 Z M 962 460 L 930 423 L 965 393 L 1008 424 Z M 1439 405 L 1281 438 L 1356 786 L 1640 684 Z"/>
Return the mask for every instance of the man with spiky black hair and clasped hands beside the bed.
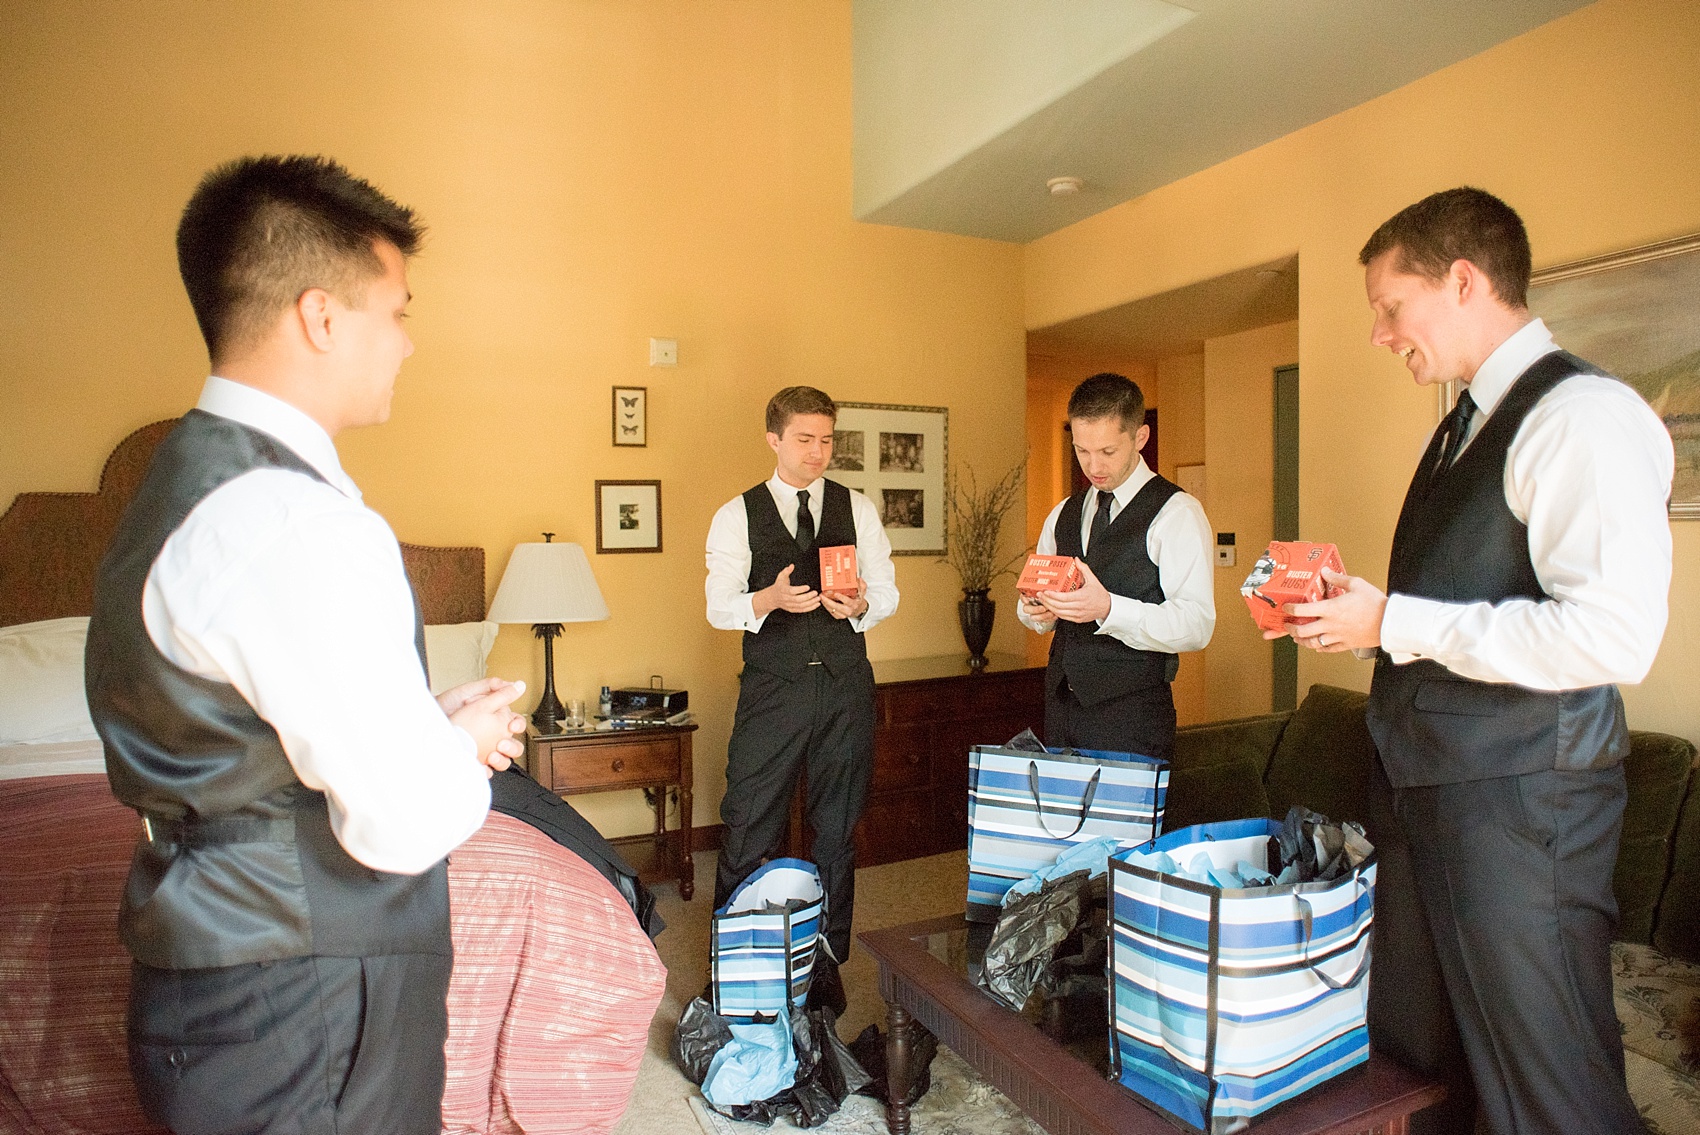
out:
<path id="1" fill-rule="evenodd" d="M 180 1135 L 442 1127 L 444 856 L 518 685 L 430 697 L 384 520 L 332 438 L 389 416 L 413 214 L 323 158 L 209 173 L 177 229 L 212 362 L 100 564 L 88 709 L 139 812 L 131 1074 Z"/>

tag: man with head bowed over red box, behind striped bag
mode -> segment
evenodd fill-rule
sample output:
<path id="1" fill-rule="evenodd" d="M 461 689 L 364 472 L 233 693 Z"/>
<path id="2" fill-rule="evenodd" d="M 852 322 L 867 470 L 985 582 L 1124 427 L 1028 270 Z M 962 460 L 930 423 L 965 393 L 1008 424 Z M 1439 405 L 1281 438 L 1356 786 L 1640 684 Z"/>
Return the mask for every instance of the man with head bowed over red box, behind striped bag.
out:
<path id="1" fill-rule="evenodd" d="M 1139 455 L 1146 398 L 1120 374 L 1095 374 L 1068 399 L 1074 457 L 1090 488 L 1046 517 L 1040 556 L 1074 556 L 1078 591 L 1023 598 L 1020 618 L 1051 639 L 1046 744 L 1168 758 L 1182 651 L 1216 629 L 1210 522 L 1204 505 Z"/>

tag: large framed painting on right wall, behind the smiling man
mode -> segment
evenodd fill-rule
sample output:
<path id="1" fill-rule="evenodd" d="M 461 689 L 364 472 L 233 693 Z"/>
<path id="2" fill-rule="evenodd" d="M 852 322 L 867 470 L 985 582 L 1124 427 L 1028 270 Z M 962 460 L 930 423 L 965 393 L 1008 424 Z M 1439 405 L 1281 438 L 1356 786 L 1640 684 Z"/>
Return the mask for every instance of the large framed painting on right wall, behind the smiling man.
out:
<path id="1" fill-rule="evenodd" d="M 1671 517 L 1700 520 L 1700 234 L 1544 268 L 1528 309 L 1564 350 L 1629 382 L 1676 449 Z"/>

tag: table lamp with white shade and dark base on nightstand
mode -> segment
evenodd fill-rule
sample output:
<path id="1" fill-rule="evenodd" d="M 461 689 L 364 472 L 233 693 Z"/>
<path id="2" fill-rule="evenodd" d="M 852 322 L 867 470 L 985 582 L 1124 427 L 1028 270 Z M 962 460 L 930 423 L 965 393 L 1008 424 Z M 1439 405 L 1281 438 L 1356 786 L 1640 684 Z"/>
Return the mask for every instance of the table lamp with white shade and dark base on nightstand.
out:
<path id="1" fill-rule="evenodd" d="M 559 732 L 564 717 L 561 698 L 554 695 L 554 639 L 561 624 L 609 617 L 585 549 L 552 540 L 554 534 L 544 532 L 542 544 L 513 545 L 488 615 L 491 622 L 529 622 L 532 634 L 542 639 L 542 698 L 532 712 L 537 732 Z"/>

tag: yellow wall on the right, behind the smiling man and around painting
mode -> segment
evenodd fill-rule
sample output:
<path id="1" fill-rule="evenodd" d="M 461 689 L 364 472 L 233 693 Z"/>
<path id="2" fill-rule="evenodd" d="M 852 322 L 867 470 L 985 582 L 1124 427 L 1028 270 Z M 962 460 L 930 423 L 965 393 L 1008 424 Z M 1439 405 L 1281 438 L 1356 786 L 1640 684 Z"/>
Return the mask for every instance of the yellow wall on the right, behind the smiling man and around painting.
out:
<path id="1" fill-rule="evenodd" d="M 1300 257 L 1300 525 L 1386 579 L 1435 399 L 1368 345 L 1357 251 L 1438 189 L 1481 185 L 1528 223 L 1538 265 L 1700 231 L 1700 5 L 1600 0 L 1380 99 L 1025 250 L 1030 328 Z M 1212 471 L 1214 472 L 1214 471 Z M 1673 617 L 1630 724 L 1700 741 L 1700 523 L 1678 522 Z M 1234 618 L 1222 610 L 1224 620 Z M 1350 658 L 1300 652 L 1299 686 L 1363 688 Z"/>

